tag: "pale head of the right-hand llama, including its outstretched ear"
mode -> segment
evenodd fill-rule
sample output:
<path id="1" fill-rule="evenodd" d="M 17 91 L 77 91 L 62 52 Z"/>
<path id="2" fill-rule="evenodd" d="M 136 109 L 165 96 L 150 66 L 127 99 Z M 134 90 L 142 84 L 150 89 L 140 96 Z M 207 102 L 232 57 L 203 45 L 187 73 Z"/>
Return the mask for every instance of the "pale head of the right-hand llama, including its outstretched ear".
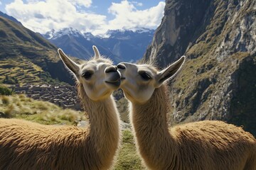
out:
<path id="1" fill-rule="evenodd" d="M 121 88 L 124 91 L 124 96 L 129 101 L 145 103 L 151 98 L 155 89 L 159 88 L 170 77 L 174 77 L 185 58 L 182 56 L 174 64 L 161 71 L 149 64 L 131 64 L 128 62 L 117 64 L 117 68 L 122 74 Z"/>

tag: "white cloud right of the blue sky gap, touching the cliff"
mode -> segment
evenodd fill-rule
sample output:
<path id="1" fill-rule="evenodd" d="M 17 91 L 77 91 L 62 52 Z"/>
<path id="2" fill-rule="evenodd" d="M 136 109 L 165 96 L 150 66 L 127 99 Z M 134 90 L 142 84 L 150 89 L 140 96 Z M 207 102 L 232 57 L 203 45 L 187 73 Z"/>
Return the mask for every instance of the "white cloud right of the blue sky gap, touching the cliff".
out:
<path id="1" fill-rule="evenodd" d="M 114 19 L 109 22 L 112 29 L 137 29 L 137 28 L 156 28 L 164 16 L 165 3 L 160 1 L 157 6 L 138 10 L 134 3 L 121 1 L 112 3 L 108 9 Z"/>

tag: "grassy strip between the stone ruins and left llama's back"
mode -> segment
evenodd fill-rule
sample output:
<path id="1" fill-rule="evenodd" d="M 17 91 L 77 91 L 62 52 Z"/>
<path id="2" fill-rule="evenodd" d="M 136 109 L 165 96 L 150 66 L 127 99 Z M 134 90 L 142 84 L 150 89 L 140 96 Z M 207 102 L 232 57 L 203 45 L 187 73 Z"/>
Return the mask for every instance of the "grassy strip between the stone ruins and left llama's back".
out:
<path id="1" fill-rule="evenodd" d="M 62 109 L 53 103 L 36 101 L 23 94 L 0 96 L 0 117 L 22 118 L 42 124 L 74 125 L 78 120 L 85 120 L 79 111 Z"/>

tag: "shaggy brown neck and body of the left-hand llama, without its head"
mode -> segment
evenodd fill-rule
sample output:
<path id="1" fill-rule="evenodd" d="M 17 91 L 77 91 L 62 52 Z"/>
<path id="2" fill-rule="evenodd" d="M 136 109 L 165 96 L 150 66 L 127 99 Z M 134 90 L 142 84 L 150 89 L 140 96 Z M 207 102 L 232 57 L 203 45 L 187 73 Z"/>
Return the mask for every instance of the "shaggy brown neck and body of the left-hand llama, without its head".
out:
<path id="1" fill-rule="evenodd" d="M 0 169 L 110 169 L 119 147 L 119 115 L 112 96 L 78 94 L 89 115 L 87 129 L 0 119 Z"/>

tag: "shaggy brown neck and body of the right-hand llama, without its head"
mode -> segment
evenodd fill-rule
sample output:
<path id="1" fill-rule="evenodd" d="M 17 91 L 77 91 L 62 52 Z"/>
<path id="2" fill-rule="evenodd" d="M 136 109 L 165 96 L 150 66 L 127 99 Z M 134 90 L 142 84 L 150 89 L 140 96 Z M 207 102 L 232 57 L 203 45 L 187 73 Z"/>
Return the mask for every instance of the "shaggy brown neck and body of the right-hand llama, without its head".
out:
<path id="1" fill-rule="evenodd" d="M 162 85 L 130 108 L 137 149 L 149 169 L 256 169 L 256 140 L 242 128 L 206 120 L 169 129 L 166 94 Z"/>

